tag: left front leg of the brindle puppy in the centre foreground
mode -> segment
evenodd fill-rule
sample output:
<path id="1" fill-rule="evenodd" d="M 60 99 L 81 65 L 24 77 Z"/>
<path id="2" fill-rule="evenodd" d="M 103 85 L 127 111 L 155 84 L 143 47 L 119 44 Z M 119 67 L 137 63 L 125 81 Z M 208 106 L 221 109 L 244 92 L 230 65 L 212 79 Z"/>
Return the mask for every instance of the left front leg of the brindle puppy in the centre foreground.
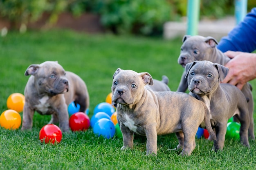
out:
<path id="1" fill-rule="evenodd" d="M 133 146 L 133 132 L 130 131 L 124 124 L 120 122 L 120 129 L 123 134 L 123 143 L 124 146 L 121 147 L 121 150 L 125 150 L 127 147 L 132 149 Z"/>

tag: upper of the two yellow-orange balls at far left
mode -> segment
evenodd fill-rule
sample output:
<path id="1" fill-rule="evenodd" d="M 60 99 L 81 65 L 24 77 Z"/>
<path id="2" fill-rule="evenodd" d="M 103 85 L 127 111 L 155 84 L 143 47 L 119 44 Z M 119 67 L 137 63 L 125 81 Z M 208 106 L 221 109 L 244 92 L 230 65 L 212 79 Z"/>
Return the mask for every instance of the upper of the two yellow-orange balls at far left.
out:
<path id="1" fill-rule="evenodd" d="M 7 108 L 17 112 L 23 111 L 25 96 L 20 93 L 13 93 L 7 98 Z"/>

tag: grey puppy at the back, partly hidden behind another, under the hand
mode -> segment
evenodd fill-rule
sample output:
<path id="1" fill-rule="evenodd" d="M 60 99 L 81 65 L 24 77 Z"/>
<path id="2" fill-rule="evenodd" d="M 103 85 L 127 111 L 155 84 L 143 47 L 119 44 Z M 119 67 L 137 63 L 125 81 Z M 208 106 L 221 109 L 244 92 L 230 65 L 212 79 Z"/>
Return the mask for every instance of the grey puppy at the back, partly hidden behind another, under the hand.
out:
<path id="1" fill-rule="evenodd" d="M 213 37 L 202 37 L 200 35 L 190 36 L 184 35 L 183 44 L 181 46 L 180 56 L 178 58 L 178 63 L 185 67 L 187 63 L 191 63 L 193 61 L 202 61 L 207 60 L 213 63 L 218 63 L 221 65 L 225 65 L 230 58 L 227 57 L 223 52 L 216 48 L 216 44 L 218 41 Z M 182 74 L 182 78 L 180 81 L 180 85 L 177 89 L 177 92 L 185 92 L 188 83 L 185 78 L 186 73 Z M 245 97 L 247 98 L 247 105 L 249 109 L 250 115 L 250 126 L 249 126 L 249 137 L 251 139 L 255 139 L 254 135 L 254 101 L 252 97 L 252 86 L 247 83 L 244 85 L 241 90 Z M 234 118 L 236 120 L 236 118 Z M 236 120 L 237 121 L 237 120 Z"/>

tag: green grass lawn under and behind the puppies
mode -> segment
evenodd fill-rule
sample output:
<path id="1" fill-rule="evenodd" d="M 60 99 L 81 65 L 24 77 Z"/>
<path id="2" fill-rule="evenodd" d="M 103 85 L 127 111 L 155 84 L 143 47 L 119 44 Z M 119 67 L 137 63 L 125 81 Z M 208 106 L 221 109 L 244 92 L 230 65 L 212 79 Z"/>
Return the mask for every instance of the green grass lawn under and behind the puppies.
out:
<path id="1" fill-rule="evenodd" d="M 90 94 L 90 113 L 111 92 L 112 75 L 117 68 L 149 72 L 153 78 L 169 78 L 169 87 L 178 87 L 183 68 L 177 64 L 181 37 L 172 41 L 144 37 L 86 35 L 72 31 L 9 33 L 0 37 L 0 112 L 7 109 L 12 93 L 23 94 L 30 64 L 58 61 L 65 70 L 85 81 Z M 251 82 L 256 87 L 256 82 Z M 253 91 L 256 96 L 256 91 Z M 255 101 L 254 97 L 254 101 Z M 22 116 L 22 114 L 21 114 Z M 255 119 L 255 116 L 254 116 Z M 0 169 L 255 169 L 256 147 L 227 139 L 222 152 L 211 150 L 213 143 L 196 139 L 189 157 L 180 151 L 174 134 L 158 137 L 157 157 L 146 155 L 146 138 L 135 136 L 134 149 L 121 151 L 120 138 L 104 139 L 85 132 L 63 134 L 58 145 L 41 144 L 40 129 L 50 116 L 34 116 L 32 131 L 0 127 Z M 254 121 L 255 122 L 255 121 Z"/>

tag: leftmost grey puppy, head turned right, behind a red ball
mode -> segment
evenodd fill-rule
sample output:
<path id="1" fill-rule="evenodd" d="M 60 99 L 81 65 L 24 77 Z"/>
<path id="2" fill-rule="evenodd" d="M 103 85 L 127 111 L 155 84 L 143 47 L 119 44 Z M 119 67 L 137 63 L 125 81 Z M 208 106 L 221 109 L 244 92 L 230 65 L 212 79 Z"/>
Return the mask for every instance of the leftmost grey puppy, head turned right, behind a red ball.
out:
<path id="1" fill-rule="evenodd" d="M 78 103 L 81 112 L 89 106 L 89 94 L 84 81 L 72 72 L 65 72 L 57 61 L 32 64 L 25 71 L 31 75 L 25 87 L 25 105 L 21 130 L 31 129 L 34 112 L 52 115 L 49 124 L 59 123 L 63 132 L 70 131 L 67 106 Z"/>

